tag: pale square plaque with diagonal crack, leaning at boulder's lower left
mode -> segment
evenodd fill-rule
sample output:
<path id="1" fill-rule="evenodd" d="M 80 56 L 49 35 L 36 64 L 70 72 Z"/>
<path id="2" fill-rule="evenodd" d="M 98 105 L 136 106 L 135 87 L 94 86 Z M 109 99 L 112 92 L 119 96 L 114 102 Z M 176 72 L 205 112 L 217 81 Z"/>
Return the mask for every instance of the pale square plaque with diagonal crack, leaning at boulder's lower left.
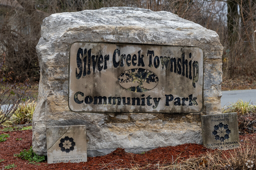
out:
<path id="1" fill-rule="evenodd" d="M 86 126 L 46 127 L 47 162 L 87 162 Z"/>

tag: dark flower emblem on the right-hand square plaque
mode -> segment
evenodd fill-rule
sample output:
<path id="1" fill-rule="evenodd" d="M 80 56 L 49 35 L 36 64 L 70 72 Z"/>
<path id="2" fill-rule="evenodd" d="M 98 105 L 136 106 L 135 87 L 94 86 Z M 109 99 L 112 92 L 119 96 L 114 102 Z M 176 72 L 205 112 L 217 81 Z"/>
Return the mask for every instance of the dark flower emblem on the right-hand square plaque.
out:
<path id="1" fill-rule="evenodd" d="M 215 140 L 224 141 L 225 139 L 229 138 L 231 130 L 228 128 L 228 124 L 223 124 L 222 122 L 218 125 L 214 126 L 214 131 L 212 132 L 212 135 L 215 136 Z"/>

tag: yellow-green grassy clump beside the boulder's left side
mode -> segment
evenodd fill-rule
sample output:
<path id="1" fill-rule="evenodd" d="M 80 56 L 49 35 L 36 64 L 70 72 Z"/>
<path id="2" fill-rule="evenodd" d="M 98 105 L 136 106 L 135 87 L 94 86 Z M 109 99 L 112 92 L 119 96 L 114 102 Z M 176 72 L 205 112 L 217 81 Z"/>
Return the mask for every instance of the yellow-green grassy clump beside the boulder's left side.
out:
<path id="1" fill-rule="evenodd" d="M 15 124 L 32 123 L 33 112 L 36 108 L 36 101 L 25 101 L 21 104 L 11 117 L 11 121 Z"/>

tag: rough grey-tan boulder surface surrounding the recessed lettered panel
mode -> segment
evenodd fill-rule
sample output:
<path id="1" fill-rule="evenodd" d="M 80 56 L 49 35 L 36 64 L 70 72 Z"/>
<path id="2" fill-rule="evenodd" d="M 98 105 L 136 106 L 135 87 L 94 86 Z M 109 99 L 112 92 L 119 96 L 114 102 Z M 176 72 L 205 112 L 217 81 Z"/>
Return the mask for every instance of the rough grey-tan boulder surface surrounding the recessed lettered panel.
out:
<path id="1" fill-rule="evenodd" d="M 204 52 L 200 113 L 76 113 L 68 107 L 69 52 L 74 42 L 199 47 Z M 53 14 L 44 19 L 36 47 L 41 68 L 33 116 L 33 150 L 46 155 L 46 126 L 86 125 L 87 155 L 116 148 L 141 153 L 183 143 L 202 144 L 200 115 L 221 113 L 221 55 L 216 32 L 170 12 L 111 7 Z"/>

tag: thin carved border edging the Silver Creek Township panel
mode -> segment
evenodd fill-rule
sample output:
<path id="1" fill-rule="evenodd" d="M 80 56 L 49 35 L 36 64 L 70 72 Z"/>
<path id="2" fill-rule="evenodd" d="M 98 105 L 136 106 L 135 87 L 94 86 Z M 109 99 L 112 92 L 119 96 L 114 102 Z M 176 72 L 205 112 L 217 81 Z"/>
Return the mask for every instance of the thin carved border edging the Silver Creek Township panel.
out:
<path id="1" fill-rule="evenodd" d="M 159 44 L 140 44 L 140 43 L 119 43 L 119 42 L 91 42 L 91 41 L 76 41 L 73 42 L 70 47 L 69 47 L 69 60 L 68 60 L 68 108 L 71 112 L 75 112 L 75 113 L 98 113 L 98 114 L 105 114 L 105 113 L 113 113 L 113 112 L 90 112 L 90 111 L 81 111 L 81 112 L 76 112 L 71 110 L 70 106 L 69 106 L 69 91 L 70 91 L 70 49 L 71 46 L 74 43 L 99 43 L 99 44 L 121 44 L 121 45 L 152 45 L 152 46 L 173 46 L 173 47 L 192 47 L 192 48 L 200 48 L 200 47 L 196 47 L 196 46 L 175 46 L 175 45 L 159 45 Z M 199 112 L 189 112 L 189 113 L 180 113 L 180 112 L 170 112 L 170 113 L 157 113 L 157 112 L 143 112 L 143 113 L 156 113 L 156 114 L 190 114 L 190 113 L 195 113 L 195 114 L 201 114 L 204 111 L 204 57 L 205 57 L 205 52 L 202 48 L 200 48 L 203 52 L 203 59 L 202 59 L 202 68 L 203 68 L 203 78 L 202 78 L 202 108 Z M 121 86 L 122 87 L 122 86 Z M 155 88 L 155 87 L 154 87 Z M 142 112 L 115 112 L 115 113 L 141 113 Z"/>

